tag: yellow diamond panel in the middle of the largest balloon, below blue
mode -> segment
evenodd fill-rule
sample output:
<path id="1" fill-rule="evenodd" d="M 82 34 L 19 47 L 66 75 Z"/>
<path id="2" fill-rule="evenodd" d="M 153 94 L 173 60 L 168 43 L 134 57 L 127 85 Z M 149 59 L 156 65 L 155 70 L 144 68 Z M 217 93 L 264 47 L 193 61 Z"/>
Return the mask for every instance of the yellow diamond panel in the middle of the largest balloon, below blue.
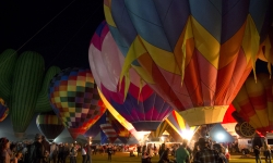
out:
<path id="1" fill-rule="evenodd" d="M 193 16 L 190 18 L 195 48 L 215 68 L 218 68 L 219 42 Z"/>

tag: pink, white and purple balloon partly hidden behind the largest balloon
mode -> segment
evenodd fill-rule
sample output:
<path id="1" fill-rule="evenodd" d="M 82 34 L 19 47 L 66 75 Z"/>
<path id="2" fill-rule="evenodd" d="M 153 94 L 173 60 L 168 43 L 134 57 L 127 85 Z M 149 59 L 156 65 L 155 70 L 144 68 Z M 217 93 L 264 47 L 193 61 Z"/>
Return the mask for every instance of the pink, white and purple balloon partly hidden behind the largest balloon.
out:
<path id="1" fill-rule="evenodd" d="M 124 82 L 119 88 L 124 58 L 105 22 L 98 26 L 92 38 L 88 55 L 94 78 L 107 101 L 136 130 L 155 130 L 173 109 L 147 85 L 140 84 L 141 79 L 134 71 L 129 72 L 133 80 L 128 85 L 128 95 L 124 95 Z"/>

